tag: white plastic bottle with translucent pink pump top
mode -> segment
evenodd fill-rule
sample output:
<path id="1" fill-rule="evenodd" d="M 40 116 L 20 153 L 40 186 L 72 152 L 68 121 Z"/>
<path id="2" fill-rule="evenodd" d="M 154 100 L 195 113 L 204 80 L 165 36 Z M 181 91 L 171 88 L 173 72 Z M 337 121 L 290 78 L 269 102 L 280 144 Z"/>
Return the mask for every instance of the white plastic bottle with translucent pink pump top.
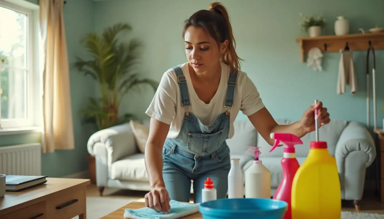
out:
<path id="1" fill-rule="evenodd" d="M 245 198 L 271 198 L 271 172 L 259 160 L 260 151 L 255 148 L 255 160 L 245 171 Z"/>

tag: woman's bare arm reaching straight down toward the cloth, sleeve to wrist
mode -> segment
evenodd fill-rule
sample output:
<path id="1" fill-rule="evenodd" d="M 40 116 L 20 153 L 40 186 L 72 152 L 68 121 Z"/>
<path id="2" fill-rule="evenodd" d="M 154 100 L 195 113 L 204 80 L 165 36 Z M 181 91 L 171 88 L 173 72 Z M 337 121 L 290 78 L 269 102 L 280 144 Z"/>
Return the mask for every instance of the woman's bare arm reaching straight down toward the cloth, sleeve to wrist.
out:
<path id="1" fill-rule="evenodd" d="M 148 173 L 151 188 L 156 186 L 165 187 L 163 179 L 163 156 L 162 148 L 169 132 L 167 123 L 151 118 L 149 125 L 149 136 L 145 147 L 144 161 Z"/>

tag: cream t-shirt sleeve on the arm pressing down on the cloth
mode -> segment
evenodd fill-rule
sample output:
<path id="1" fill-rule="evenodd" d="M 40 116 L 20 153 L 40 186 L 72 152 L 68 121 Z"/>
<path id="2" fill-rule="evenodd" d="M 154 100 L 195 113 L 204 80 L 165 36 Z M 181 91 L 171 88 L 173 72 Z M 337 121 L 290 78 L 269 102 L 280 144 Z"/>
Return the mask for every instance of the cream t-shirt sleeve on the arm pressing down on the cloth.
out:
<path id="1" fill-rule="evenodd" d="M 173 71 L 163 74 L 152 102 L 146 110 L 147 115 L 169 125 L 176 114 L 177 102 L 177 82 L 172 74 Z"/>

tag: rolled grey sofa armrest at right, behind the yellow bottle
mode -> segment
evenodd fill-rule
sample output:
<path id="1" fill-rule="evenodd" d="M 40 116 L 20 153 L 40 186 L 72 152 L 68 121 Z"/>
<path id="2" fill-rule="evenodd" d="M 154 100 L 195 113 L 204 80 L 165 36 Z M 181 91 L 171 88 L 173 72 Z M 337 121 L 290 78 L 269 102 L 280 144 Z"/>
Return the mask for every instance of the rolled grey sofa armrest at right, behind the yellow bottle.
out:
<path id="1" fill-rule="evenodd" d="M 372 135 L 359 122 L 349 122 L 336 144 L 336 163 L 343 199 L 360 200 L 364 189 L 366 168 L 376 158 Z"/>

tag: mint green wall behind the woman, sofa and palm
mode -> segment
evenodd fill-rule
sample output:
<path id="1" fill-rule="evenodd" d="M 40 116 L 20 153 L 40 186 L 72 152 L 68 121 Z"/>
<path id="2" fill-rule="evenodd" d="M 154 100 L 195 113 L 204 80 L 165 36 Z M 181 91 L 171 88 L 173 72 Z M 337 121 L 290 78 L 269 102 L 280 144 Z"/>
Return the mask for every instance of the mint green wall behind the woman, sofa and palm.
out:
<path id="1" fill-rule="evenodd" d="M 37 3 L 38 0 L 28 0 Z M 101 31 L 116 22 L 129 22 L 132 36 L 144 43 L 142 71 L 144 77 L 160 80 L 164 71 L 186 61 L 181 32 L 183 21 L 200 9 L 207 9 L 209 0 L 69 0 L 64 6 L 66 37 L 69 61 L 83 55 L 79 40 L 88 31 Z M 336 16 L 343 15 L 350 21 L 351 33 L 359 28 L 384 26 L 382 0 L 222 0 L 228 8 L 237 52 L 245 59 L 242 70 L 247 72 L 261 93 L 263 101 L 276 118 L 300 119 L 314 99 L 324 102 L 331 119 L 355 120 L 366 123 L 366 52 L 356 52 L 355 68 L 359 92 L 351 95 L 336 94 L 338 77 L 338 53 L 326 53 L 323 72 L 314 72 L 300 61 L 300 45 L 295 38 L 306 36 L 298 25 L 299 13 L 323 14 L 328 26 L 324 34 L 334 34 Z M 126 38 L 126 37 L 124 37 Z M 383 51 L 376 51 L 377 78 L 377 124 L 382 127 L 384 104 Z M 89 127 L 79 122 L 78 110 L 89 96 L 97 95 L 94 83 L 88 77 L 71 72 L 71 96 L 76 149 L 55 151 L 43 155 L 43 174 L 65 176 L 86 170 L 86 142 L 92 133 Z M 371 77 L 372 78 L 372 77 Z M 146 118 L 144 111 L 153 97 L 153 92 L 133 92 L 122 103 L 122 112 L 133 112 Z M 372 88 L 372 86 L 371 86 Z M 348 90 L 348 89 L 347 89 Z M 150 91 L 150 90 L 149 90 Z M 349 90 L 348 90 L 349 91 Z M 286 96 L 286 95 L 289 96 Z M 372 97 L 372 93 L 371 93 Z M 372 111 L 372 102 L 371 102 Z M 371 114 L 372 115 L 372 114 Z M 239 114 L 238 119 L 246 119 Z M 371 116 L 373 125 L 373 116 Z M 0 136 L 0 146 L 39 142 L 40 134 Z"/>

